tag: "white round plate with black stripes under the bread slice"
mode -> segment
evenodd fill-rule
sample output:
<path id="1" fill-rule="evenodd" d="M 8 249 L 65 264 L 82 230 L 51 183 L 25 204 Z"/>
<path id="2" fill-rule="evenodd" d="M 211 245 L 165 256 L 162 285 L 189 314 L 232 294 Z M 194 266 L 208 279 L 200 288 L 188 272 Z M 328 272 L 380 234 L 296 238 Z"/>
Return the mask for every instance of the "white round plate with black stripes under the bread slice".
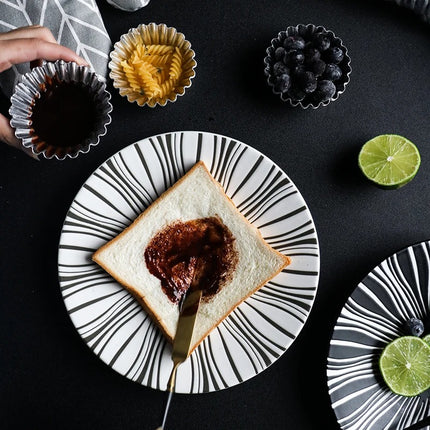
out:
<path id="1" fill-rule="evenodd" d="M 58 253 L 64 303 L 88 347 L 121 375 L 165 390 L 171 346 L 135 299 L 91 260 L 197 161 L 266 241 L 292 263 L 228 316 L 178 369 L 176 392 L 239 384 L 293 343 L 312 308 L 319 245 L 298 189 L 252 147 L 206 132 L 166 133 L 110 157 L 84 183 L 67 213 Z"/>

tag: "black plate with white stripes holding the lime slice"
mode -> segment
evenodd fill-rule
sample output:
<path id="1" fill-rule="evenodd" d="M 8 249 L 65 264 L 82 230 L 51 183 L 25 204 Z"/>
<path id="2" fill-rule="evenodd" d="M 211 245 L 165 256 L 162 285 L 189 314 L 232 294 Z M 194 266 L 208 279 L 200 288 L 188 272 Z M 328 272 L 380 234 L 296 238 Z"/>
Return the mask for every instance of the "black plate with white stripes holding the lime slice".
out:
<path id="1" fill-rule="evenodd" d="M 405 248 L 375 267 L 342 309 L 330 342 L 329 393 L 345 430 L 403 430 L 430 415 L 429 392 L 394 394 L 379 371 L 384 347 L 406 335 L 411 317 L 430 307 L 430 241 Z M 423 427 L 430 429 L 430 426 Z"/>

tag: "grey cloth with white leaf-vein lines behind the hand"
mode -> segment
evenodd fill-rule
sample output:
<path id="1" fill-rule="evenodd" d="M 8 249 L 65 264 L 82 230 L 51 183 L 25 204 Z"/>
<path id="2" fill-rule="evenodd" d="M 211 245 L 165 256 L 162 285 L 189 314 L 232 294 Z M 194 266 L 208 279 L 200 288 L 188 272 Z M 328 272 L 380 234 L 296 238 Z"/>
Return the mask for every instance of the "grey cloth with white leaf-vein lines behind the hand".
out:
<path id="1" fill-rule="evenodd" d="M 108 73 L 112 42 L 95 0 L 0 0 L 0 32 L 28 25 L 48 27 L 57 42 L 84 58 L 101 77 Z M 20 74 L 18 64 L 0 74 L 0 87 L 10 97 Z"/>

